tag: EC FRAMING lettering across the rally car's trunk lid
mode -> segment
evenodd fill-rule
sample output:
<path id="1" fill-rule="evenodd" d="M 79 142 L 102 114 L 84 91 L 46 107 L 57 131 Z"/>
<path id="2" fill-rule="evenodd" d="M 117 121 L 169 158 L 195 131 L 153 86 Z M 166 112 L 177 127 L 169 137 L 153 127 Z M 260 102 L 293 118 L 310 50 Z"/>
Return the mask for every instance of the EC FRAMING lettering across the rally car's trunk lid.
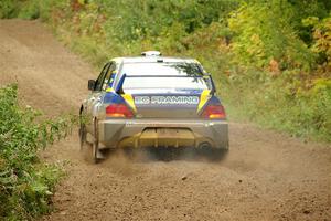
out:
<path id="1" fill-rule="evenodd" d="M 168 104 L 199 104 L 197 96 L 136 96 L 135 104 L 137 105 L 168 105 Z"/>

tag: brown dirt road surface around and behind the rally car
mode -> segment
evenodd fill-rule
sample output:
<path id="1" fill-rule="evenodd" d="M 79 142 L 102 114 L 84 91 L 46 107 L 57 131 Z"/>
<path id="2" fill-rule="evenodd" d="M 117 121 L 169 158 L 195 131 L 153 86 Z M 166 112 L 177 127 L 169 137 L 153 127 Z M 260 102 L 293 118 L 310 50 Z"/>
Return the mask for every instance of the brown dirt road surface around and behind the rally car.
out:
<path id="1" fill-rule="evenodd" d="M 18 81 L 24 104 L 56 116 L 78 109 L 96 77 L 38 21 L 0 21 L 0 85 Z M 76 134 L 44 152 L 68 176 L 43 220 L 331 220 L 331 147 L 231 124 L 223 162 L 84 160 Z"/>

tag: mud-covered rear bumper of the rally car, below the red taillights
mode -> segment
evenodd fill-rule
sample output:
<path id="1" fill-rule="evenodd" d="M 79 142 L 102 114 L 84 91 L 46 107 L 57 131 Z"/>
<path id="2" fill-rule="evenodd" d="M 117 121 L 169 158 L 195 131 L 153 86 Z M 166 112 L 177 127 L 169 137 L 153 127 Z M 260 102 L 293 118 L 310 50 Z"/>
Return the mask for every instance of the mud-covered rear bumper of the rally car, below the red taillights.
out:
<path id="1" fill-rule="evenodd" d="M 106 119 L 98 123 L 100 147 L 228 148 L 226 120 Z"/>

